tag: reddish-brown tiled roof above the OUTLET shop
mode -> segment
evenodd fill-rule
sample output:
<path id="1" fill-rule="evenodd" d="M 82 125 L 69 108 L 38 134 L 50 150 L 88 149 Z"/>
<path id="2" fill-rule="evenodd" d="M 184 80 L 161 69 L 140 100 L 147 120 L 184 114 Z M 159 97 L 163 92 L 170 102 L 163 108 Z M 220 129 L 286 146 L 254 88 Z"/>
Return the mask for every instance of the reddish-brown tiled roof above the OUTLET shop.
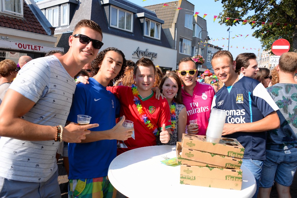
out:
<path id="1" fill-rule="evenodd" d="M 0 27 L 48 35 L 25 1 L 23 1 L 23 5 L 23 19 L 1 13 Z"/>

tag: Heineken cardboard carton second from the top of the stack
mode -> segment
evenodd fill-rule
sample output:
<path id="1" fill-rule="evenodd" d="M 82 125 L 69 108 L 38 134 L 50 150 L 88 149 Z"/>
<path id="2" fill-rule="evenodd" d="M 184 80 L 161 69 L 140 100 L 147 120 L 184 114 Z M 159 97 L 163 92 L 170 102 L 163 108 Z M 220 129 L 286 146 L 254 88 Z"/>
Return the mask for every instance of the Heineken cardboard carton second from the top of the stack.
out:
<path id="1" fill-rule="evenodd" d="M 209 153 L 206 151 L 197 151 L 189 148 L 182 148 L 181 157 L 231 169 L 240 169 L 240 166 L 242 164 L 242 159 L 239 158 L 233 158 L 216 153 Z"/>

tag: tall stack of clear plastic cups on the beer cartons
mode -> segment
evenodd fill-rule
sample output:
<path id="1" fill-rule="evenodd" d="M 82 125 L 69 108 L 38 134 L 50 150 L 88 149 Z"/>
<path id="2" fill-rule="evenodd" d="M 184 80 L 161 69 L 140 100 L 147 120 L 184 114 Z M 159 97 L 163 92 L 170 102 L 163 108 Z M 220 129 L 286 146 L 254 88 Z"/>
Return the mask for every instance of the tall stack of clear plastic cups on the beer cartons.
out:
<path id="1" fill-rule="evenodd" d="M 219 143 L 222 137 L 226 115 L 227 115 L 227 112 L 225 110 L 220 110 L 220 109 L 211 110 L 208 127 L 206 130 L 207 142 Z"/>

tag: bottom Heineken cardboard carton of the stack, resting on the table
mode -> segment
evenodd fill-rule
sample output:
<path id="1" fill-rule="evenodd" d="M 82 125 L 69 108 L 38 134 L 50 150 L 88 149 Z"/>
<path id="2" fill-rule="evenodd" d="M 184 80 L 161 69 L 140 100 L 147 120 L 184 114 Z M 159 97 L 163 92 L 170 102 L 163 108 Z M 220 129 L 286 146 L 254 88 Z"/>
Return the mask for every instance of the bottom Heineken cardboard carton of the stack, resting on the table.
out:
<path id="1" fill-rule="evenodd" d="M 241 190 L 242 170 L 181 165 L 180 183 Z"/>

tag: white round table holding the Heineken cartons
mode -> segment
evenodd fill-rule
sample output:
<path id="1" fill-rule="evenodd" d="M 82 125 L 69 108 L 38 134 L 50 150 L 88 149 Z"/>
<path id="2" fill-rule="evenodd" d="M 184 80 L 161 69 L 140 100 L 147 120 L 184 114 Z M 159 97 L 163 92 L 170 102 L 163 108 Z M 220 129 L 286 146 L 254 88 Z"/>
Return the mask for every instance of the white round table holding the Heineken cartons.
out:
<path id="1" fill-rule="evenodd" d="M 145 197 L 252 197 L 256 181 L 244 166 L 241 190 L 208 188 L 180 184 L 180 166 L 162 164 L 164 157 L 176 157 L 175 146 L 136 148 L 117 156 L 110 163 L 108 178 L 129 198 Z"/>

